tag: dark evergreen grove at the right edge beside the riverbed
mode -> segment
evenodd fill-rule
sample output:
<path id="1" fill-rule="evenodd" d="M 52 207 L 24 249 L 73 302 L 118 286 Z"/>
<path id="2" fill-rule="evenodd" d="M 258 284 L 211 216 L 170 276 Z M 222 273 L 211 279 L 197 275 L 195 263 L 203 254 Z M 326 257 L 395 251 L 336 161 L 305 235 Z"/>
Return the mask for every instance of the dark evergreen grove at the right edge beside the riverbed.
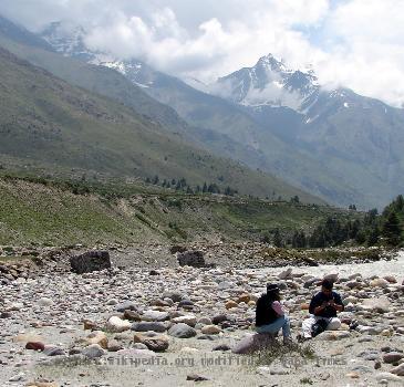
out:
<path id="1" fill-rule="evenodd" d="M 356 208 L 350 207 L 350 210 Z M 404 245 L 404 197 L 400 195 L 379 215 L 370 210 L 362 220 L 341 220 L 329 217 L 310 234 L 296 231 L 292 236 L 282 236 L 279 230 L 272 233 L 276 247 L 328 248 L 354 241 L 361 245 Z"/>

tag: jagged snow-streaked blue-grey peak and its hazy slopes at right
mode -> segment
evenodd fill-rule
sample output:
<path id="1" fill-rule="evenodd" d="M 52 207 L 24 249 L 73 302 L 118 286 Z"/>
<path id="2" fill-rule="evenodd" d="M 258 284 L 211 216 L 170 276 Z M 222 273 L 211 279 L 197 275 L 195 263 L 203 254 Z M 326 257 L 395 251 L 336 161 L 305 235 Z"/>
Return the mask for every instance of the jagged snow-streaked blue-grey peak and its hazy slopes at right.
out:
<path id="1" fill-rule="evenodd" d="M 380 206 L 404 190 L 404 109 L 349 88 L 325 90 L 312 71 L 291 71 L 272 55 L 210 90 L 309 151 L 369 203 Z"/>

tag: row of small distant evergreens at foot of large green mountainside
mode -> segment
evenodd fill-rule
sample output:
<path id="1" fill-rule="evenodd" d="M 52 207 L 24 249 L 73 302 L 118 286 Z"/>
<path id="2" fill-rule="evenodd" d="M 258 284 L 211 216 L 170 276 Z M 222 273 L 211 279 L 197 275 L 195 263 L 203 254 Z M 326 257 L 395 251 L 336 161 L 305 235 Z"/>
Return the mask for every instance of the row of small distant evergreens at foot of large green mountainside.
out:
<path id="1" fill-rule="evenodd" d="M 226 196 L 235 196 L 238 194 L 236 189 L 232 189 L 229 186 L 221 190 L 219 186 L 214 182 L 207 184 L 205 181 L 203 186 L 197 185 L 196 187 L 191 187 L 184 177 L 178 180 L 176 179 L 160 180 L 159 177 L 156 175 L 152 179 L 147 177 L 145 181 L 146 184 L 153 184 L 155 186 L 162 186 L 164 188 L 170 188 L 177 191 L 184 191 L 186 194 L 222 194 Z"/>

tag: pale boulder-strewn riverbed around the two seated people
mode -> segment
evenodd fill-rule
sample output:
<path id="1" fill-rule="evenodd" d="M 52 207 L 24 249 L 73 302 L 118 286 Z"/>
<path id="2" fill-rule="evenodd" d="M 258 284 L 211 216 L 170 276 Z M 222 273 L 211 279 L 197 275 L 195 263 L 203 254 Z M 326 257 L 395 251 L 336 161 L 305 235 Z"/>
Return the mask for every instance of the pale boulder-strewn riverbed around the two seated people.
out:
<path id="1" fill-rule="evenodd" d="M 0 385 L 402 386 L 403 258 L 350 270 L 245 270 L 142 268 L 118 257 L 100 272 L 10 279 L 0 289 Z M 253 333 L 255 302 L 267 282 L 282 289 L 296 336 L 318 281 L 338 272 L 346 305 L 339 331 L 300 354 L 282 349 L 276 358 L 276 346 L 260 359 L 231 353 Z"/>

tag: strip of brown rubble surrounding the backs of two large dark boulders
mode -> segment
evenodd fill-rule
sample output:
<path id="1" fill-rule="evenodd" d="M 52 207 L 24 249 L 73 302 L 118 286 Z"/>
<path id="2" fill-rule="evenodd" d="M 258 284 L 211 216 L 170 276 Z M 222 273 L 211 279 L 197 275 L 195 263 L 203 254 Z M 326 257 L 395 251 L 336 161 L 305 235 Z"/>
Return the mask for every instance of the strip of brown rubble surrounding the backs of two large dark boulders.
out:
<path id="1" fill-rule="evenodd" d="M 278 249 L 260 242 L 216 242 L 199 241 L 186 245 L 143 243 L 123 245 L 85 247 L 9 247 L 0 245 L 0 283 L 7 284 L 18 278 L 34 278 L 44 272 L 69 273 L 71 257 L 89 250 L 108 250 L 115 268 L 159 269 L 178 265 L 176 251 L 200 251 L 207 264 L 235 269 L 259 269 L 341 265 L 344 263 L 370 263 L 389 261 L 395 251 L 376 248 L 344 248 L 323 250 Z"/>

